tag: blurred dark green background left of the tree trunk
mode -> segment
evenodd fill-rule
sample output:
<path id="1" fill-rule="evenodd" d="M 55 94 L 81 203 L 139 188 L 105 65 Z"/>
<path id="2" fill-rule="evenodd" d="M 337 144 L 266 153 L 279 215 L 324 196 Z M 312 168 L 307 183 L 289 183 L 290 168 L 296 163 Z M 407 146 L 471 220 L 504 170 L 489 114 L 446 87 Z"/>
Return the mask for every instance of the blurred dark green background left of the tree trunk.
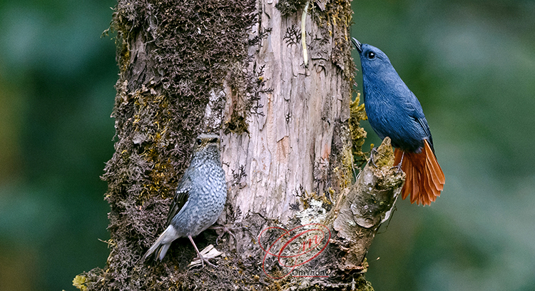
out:
<path id="1" fill-rule="evenodd" d="M 0 290 L 74 290 L 108 257 L 116 1 L 0 1 Z"/>

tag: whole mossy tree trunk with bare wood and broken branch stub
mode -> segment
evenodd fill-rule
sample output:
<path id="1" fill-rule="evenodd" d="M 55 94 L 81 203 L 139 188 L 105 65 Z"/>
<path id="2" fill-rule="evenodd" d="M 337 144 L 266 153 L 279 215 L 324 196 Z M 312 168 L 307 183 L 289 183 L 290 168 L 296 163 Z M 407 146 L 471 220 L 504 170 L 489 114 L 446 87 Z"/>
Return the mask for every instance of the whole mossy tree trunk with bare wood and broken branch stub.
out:
<path id="1" fill-rule="evenodd" d="M 276 4 L 276 5 L 275 5 Z M 372 290 L 362 274 L 403 183 L 385 140 L 360 172 L 365 118 L 352 102 L 349 0 L 118 1 L 116 153 L 106 165 L 111 252 L 81 290 Z M 303 56 L 308 56 L 305 62 Z M 307 65 L 305 66 L 305 63 Z M 165 226 L 193 138 L 220 133 L 233 225 L 218 268 L 188 270 L 173 242 L 140 262 Z M 200 249 L 214 243 L 206 230 Z"/>

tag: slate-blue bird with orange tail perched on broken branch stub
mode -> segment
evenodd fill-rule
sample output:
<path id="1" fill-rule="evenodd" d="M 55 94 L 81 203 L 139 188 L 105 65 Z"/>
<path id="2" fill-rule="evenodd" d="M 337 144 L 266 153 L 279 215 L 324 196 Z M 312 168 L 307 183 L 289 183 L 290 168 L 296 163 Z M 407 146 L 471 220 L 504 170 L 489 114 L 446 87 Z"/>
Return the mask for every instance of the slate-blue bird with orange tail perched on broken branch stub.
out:
<path id="1" fill-rule="evenodd" d="M 411 203 L 429 205 L 440 195 L 445 178 L 422 106 L 386 54 L 355 38 L 352 42 L 360 54 L 368 121 L 379 138 L 392 140 L 394 164 L 406 174 L 402 198 L 410 194 Z"/>

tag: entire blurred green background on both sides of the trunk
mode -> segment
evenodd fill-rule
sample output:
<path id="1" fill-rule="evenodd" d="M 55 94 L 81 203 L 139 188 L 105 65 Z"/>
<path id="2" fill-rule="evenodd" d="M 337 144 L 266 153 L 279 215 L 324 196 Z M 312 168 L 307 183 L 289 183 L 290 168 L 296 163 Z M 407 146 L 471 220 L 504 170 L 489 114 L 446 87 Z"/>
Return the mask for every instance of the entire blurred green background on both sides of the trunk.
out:
<path id="1" fill-rule="evenodd" d="M 106 263 L 99 176 L 118 68 L 100 36 L 115 4 L 0 1 L 0 290 L 73 290 Z M 535 2 L 353 8 L 352 36 L 418 96 L 447 178 L 430 207 L 397 203 L 367 279 L 378 291 L 535 290 Z"/>

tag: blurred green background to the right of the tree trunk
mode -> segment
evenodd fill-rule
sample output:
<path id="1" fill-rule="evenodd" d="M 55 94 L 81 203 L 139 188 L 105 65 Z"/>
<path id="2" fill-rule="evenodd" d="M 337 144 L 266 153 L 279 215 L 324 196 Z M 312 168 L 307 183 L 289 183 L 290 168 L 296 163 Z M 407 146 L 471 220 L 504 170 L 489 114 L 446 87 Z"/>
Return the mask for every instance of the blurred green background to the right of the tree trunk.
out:
<path id="1" fill-rule="evenodd" d="M 352 6 L 352 36 L 387 53 L 419 98 L 446 175 L 430 207 L 398 200 L 367 279 L 378 291 L 535 290 L 535 1 Z"/>

